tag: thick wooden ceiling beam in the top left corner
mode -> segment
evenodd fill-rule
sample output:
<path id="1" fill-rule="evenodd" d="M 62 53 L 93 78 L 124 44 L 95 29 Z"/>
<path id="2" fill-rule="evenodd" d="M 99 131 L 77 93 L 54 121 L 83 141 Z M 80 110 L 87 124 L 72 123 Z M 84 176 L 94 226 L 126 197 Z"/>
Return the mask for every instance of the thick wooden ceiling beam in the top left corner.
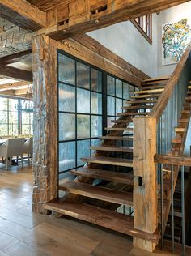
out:
<path id="1" fill-rule="evenodd" d="M 47 14 L 24 0 L 0 0 L 0 15 L 29 31 L 45 28 L 47 24 Z"/>

